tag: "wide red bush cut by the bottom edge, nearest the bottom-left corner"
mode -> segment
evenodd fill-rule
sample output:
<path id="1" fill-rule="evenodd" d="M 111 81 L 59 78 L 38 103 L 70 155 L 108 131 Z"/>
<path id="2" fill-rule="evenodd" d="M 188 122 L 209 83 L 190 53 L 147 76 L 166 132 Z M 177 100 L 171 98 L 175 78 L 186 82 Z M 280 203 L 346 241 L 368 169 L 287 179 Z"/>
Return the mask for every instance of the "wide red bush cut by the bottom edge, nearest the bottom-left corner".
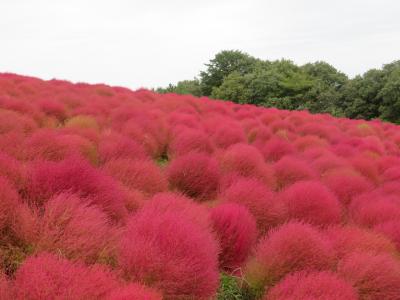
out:
<path id="1" fill-rule="evenodd" d="M 99 299 L 118 287 L 101 266 L 87 267 L 55 255 L 29 257 L 15 274 L 14 299 Z"/>

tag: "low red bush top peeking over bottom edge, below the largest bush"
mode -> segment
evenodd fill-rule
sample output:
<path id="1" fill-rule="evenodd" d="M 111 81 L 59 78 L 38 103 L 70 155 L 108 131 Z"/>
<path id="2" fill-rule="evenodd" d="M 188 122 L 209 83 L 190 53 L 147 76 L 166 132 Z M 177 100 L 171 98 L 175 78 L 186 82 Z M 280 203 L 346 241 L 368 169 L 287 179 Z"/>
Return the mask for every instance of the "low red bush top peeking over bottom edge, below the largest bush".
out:
<path id="1" fill-rule="evenodd" d="M 162 296 L 144 285 L 131 283 L 111 292 L 108 300 L 162 300 Z"/>

